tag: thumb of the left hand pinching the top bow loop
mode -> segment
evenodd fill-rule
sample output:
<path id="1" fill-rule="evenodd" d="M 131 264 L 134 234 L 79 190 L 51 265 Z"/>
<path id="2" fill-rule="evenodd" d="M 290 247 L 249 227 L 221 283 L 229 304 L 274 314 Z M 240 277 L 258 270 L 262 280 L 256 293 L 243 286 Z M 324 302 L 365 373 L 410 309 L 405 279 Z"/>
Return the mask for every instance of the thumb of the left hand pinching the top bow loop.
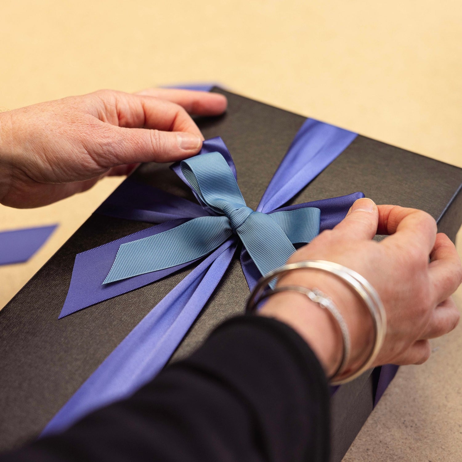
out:
<path id="1" fill-rule="evenodd" d="M 202 138 L 188 132 L 164 132 L 146 128 L 121 128 L 117 142 L 111 146 L 112 165 L 138 164 L 140 162 L 175 162 L 197 154 Z M 112 156 L 111 156 L 112 157 Z"/>

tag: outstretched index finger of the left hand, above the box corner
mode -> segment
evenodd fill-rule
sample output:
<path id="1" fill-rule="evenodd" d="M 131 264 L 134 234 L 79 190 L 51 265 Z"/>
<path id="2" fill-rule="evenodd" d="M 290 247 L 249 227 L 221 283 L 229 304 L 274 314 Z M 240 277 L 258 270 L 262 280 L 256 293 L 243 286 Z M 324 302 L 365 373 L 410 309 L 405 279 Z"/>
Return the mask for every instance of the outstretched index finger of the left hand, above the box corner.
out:
<path id="1" fill-rule="evenodd" d="M 147 88 L 135 95 L 153 96 L 179 104 L 189 114 L 218 116 L 226 110 L 228 101 L 224 95 L 209 91 L 179 90 L 175 88 Z"/>

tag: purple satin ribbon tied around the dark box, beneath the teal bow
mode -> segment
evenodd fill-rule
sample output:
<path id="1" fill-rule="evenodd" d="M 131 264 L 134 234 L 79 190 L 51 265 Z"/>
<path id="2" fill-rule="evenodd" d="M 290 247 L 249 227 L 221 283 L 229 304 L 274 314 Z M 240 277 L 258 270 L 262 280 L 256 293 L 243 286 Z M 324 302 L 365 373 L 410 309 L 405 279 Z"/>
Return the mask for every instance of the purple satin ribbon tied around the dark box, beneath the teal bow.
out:
<path id="1" fill-rule="evenodd" d="M 260 212 L 263 216 L 271 218 L 277 213 L 314 207 L 320 210 L 320 231 L 334 227 L 345 217 L 353 202 L 364 197 L 364 194 L 354 193 L 333 199 L 278 207 L 283 206 L 298 194 L 338 157 L 356 136 L 341 128 L 307 119 L 269 183 L 256 211 L 249 212 L 249 216 Z M 197 158 L 212 152 L 219 152 L 223 156 L 232 176 L 236 178 L 236 168 L 220 138 L 205 141 L 201 154 Z M 190 165 L 186 164 L 187 167 L 184 165 L 176 165 L 173 170 L 183 181 L 188 183 L 188 177 L 194 182 L 194 177 L 188 170 Z M 198 184 L 201 183 L 198 182 Z M 187 220 L 190 222 L 193 221 L 191 219 L 198 217 L 218 218 L 225 224 L 231 225 L 230 219 L 224 214 L 225 207 L 217 207 L 217 203 L 209 198 L 208 193 L 204 193 L 204 189 L 195 190 L 193 188 L 193 192 L 202 206 L 156 188 L 138 184 L 130 179 L 122 183 L 121 187 L 98 208 L 97 212 L 127 219 L 162 223 L 78 254 L 60 317 L 159 280 L 189 265 L 191 262 L 139 274 L 110 284 L 102 284 L 111 270 L 121 244 L 172 230 L 186 223 Z M 236 191 L 234 193 L 237 194 Z M 201 199 L 201 195 L 206 201 Z M 245 207 L 245 203 L 240 198 L 234 203 L 239 204 L 236 210 Z M 216 212 L 212 207 L 216 208 Z M 226 210 L 229 212 L 228 208 Z M 248 212 L 246 209 L 244 211 Z M 297 229 L 286 226 L 284 220 L 278 219 L 277 215 L 273 220 L 286 231 L 285 235 L 288 238 L 292 236 L 292 232 L 298 232 Z M 234 222 L 234 227 L 238 223 L 240 221 Z M 239 229 L 239 226 L 236 229 Z M 289 238 L 292 241 L 297 239 L 293 236 Z M 233 259 L 237 243 L 237 235 L 232 233 L 212 253 L 202 257 L 201 260 L 195 260 L 198 262 L 197 266 L 122 340 L 49 422 L 42 434 L 59 432 L 86 413 L 130 395 L 151 380 L 164 367 L 195 318 L 207 304 Z M 240 257 L 244 275 L 249 287 L 252 288 L 259 278 L 260 270 L 245 247 Z"/>

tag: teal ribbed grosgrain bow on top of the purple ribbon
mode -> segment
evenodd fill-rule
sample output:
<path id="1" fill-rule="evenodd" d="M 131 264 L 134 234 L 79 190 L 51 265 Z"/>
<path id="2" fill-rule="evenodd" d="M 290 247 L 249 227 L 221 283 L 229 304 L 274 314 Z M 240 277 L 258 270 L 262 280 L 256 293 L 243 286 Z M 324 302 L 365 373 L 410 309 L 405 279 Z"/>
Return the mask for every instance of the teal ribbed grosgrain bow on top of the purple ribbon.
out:
<path id="1" fill-rule="evenodd" d="M 294 243 L 309 243 L 319 233 L 320 210 L 316 207 L 271 214 L 247 207 L 234 172 L 219 152 L 183 160 L 180 168 L 201 204 L 213 215 L 122 244 L 103 284 L 197 260 L 233 233 L 240 237 L 260 273 L 267 274 L 295 252 Z"/>

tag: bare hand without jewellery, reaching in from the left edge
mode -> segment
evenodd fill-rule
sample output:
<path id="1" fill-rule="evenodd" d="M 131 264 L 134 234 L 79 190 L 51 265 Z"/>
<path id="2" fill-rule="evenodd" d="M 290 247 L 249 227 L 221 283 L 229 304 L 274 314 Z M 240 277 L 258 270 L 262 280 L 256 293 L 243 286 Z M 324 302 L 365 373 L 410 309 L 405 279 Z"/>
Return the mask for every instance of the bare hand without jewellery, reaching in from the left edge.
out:
<path id="1" fill-rule="evenodd" d="M 201 91 L 101 90 L 0 114 L 0 203 L 38 207 L 127 175 L 140 162 L 173 162 L 204 139 L 189 114 L 214 116 L 226 98 Z"/>

